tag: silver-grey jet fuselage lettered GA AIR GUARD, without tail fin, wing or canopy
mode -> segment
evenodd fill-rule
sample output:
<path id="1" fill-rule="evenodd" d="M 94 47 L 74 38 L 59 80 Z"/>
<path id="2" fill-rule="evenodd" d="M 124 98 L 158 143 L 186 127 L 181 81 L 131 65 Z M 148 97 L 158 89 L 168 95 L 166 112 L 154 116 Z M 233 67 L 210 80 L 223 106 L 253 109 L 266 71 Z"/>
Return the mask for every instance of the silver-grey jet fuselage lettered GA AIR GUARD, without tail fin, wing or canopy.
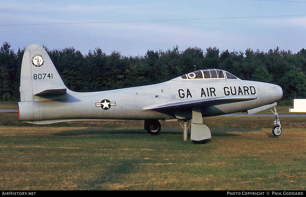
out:
<path id="1" fill-rule="evenodd" d="M 20 102 L 20 120 L 60 122 L 69 120 L 166 120 L 190 116 L 181 110 L 173 114 L 150 110 L 174 102 L 193 101 L 231 95 L 252 95 L 256 99 L 221 105 L 201 106 L 203 117 L 247 111 L 282 98 L 275 84 L 236 79 L 184 80 L 177 77 L 159 84 L 99 92 L 74 92 Z M 25 109 L 25 110 L 22 110 Z M 32 110 L 27 110 L 32 109 Z M 53 121 L 52 121 L 53 120 Z"/>

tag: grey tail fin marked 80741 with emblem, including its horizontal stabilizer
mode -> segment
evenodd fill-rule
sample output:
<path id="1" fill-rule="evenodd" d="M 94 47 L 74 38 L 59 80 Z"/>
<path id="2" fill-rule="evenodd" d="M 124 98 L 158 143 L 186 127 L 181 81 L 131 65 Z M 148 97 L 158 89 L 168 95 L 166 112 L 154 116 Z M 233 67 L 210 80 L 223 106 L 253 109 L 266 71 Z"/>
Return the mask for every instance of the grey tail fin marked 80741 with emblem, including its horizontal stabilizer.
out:
<path id="1" fill-rule="evenodd" d="M 35 101 L 35 96 L 60 95 L 66 91 L 46 50 L 40 45 L 28 46 L 21 64 L 20 101 Z"/>

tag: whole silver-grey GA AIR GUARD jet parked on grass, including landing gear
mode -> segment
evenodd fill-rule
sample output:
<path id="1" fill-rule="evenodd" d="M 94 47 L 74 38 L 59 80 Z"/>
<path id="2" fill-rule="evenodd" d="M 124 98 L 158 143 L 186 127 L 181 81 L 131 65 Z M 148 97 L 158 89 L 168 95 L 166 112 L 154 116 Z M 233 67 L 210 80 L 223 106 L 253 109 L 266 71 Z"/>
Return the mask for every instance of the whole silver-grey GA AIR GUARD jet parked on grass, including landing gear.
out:
<path id="1" fill-rule="evenodd" d="M 253 114 L 270 109 L 275 115 L 272 133 L 282 133 L 275 106 L 282 98 L 278 85 L 245 81 L 219 69 L 184 74 L 159 84 L 99 92 L 74 92 L 63 83 L 40 45 L 30 45 L 21 65 L 19 120 L 51 124 L 75 120 L 144 120 L 150 134 L 158 134 L 159 120 L 177 120 L 184 140 L 211 138 L 203 117 L 236 112 Z M 189 126 L 188 126 L 188 123 Z"/>

